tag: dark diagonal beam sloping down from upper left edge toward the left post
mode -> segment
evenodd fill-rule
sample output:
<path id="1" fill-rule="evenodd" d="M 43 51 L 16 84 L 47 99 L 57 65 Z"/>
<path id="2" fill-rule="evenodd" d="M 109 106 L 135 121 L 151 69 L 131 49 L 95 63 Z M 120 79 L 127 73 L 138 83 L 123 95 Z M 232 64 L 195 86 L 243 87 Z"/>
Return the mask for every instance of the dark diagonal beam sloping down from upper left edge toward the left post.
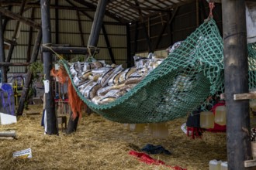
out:
<path id="1" fill-rule="evenodd" d="M 28 26 L 33 26 L 36 29 L 41 29 L 41 26 L 40 26 L 39 23 L 33 22 L 32 20 L 26 19 L 26 18 L 22 17 L 21 15 L 18 15 L 16 13 L 10 12 L 9 10 L 7 10 L 5 8 L 0 7 L 0 13 L 2 13 L 2 15 L 8 16 L 11 19 L 16 19 L 19 22 L 23 22 L 23 23 L 25 23 Z"/>

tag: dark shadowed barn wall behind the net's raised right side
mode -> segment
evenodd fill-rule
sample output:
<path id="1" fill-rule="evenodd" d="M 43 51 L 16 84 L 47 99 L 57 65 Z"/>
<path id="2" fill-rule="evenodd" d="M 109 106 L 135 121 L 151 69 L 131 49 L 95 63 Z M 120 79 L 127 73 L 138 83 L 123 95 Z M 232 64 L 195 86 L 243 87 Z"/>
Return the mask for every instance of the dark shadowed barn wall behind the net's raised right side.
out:
<path id="1" fill-rule="evenodd" d="M 150 19 L 144 19 L 151 46 L 156 45 L 160 30 L 164 26 L 164 23 L 171 19 L 171 15 L 174 12 L 175 10 L 159 13 L 159 15 L 150 17 Z M 199 16 L 196 16 L 197 14 Z M 199 12 L 196 12 L 196 2 L 190 2 L 179 6 L 171 24 L 168 24 L 165 27 L 155 51 L 167 49 L 168 46 L 171 46 L 175 42 L 186 39 L 187 36 L 194 32 L 195 29 L 207 19 L 208 15 L 209 5 L 205 0 L 199 0 Z M 197 21 L 197 19 L 199 19 L 199 21 Z M 216 24 L 220 29 L 220 34 L 222 35 L 222 13 L 220 3 L 215 4 L 215 8 L 213 9 L 213 19 L 215 19 Z M 147 56 L 148 52 L 148 42 L 142 23 L 132 23 L 130 25 L 130 59 L 132 60 L 133 55 L 136 53 L 141 53 L 143 56 Z"/>

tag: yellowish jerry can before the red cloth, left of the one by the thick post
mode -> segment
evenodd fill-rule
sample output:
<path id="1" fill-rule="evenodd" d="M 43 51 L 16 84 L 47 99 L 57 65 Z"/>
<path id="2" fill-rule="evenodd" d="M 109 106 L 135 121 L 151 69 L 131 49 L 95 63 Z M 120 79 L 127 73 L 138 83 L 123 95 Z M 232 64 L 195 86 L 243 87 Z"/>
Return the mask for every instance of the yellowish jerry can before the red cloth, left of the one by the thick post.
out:
<path id="1" fill-rule="evenodd" d="M 200 127 L 201 128 L 214 128 L 214 114 L 211 111 L 202 111 L 200 113 Z"/>

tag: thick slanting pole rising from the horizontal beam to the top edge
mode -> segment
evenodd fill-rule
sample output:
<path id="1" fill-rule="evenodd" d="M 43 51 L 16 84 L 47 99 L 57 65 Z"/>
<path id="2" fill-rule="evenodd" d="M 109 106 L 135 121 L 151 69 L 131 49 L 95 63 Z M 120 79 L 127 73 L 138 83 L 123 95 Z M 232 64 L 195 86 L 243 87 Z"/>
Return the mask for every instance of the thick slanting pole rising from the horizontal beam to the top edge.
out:
<path id="1" fill-rule="evenodd" d="M 106 11 L 107 0 L 99 0 L 94 21 L 92 22 L 91 34 L 88 39 L 88 46 L 97 46 L 99 40 L 99 32 L 102 28 L 102 22 Z"/>

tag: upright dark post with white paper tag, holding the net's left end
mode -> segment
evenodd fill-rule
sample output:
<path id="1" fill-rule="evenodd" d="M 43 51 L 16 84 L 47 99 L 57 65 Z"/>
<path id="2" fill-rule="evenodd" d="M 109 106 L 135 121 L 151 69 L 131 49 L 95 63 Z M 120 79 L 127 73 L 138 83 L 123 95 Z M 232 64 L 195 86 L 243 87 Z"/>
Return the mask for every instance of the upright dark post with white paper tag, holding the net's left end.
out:
<path id="1" fill-rule="evenodd" d="M 42 30 L 43 30 L 43 44 L 51 43 L 50 36 L 50 0 L 40 0 L 41 2 L 41 17 L 42 17 Z M 50 76 L 50 70 L 53 68 L 53 57 L 50 52 L 43 52 L 43 73 L 45 80 L 49 82 L 45 89 L 45 110 L 47 115 L 47 134 L 58 134 L 57 129 L 57 115 L 55 113 L 54 95 L 52 82 L 53 78 Z"/>

